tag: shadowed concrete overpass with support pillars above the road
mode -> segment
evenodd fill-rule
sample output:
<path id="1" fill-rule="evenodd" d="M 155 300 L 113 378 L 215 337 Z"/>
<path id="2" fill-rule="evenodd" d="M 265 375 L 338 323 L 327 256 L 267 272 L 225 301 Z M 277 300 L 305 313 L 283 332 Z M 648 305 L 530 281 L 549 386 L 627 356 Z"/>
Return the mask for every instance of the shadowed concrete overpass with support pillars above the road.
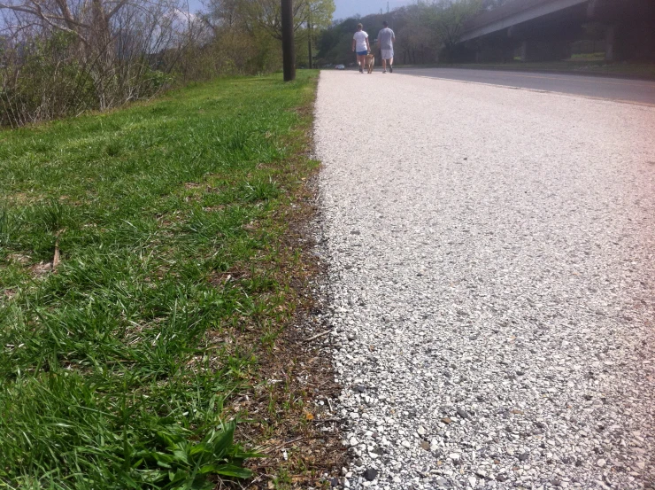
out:
<path id="1" fill-rule="evenodd" d="M 591 26 L 591 27 L 590 27 Z M 567 58 L 571 43 L 604 38 L 605 59 L 655 58 L 655 0 L 511 0 L 466 23 L 460 56 L 477 61 Z"/>

